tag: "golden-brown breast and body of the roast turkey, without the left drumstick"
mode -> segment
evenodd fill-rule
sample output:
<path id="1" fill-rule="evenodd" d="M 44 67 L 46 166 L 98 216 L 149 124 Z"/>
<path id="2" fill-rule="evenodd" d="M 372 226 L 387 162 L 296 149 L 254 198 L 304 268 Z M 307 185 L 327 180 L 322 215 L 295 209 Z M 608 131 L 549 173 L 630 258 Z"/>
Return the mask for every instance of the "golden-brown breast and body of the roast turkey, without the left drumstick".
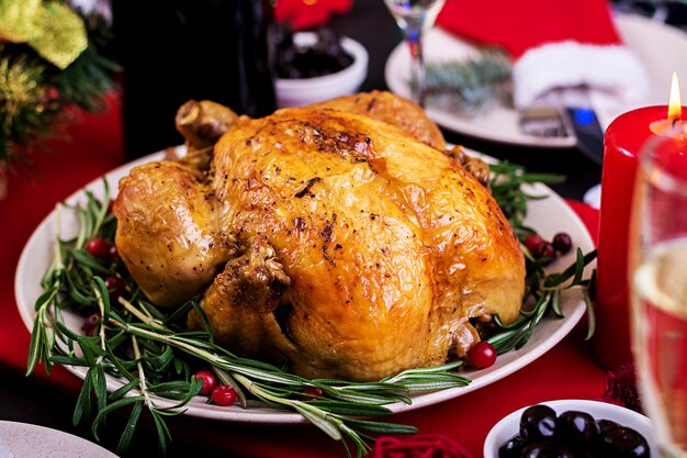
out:
<path id="1" fill-rule="evenodd" d="M 260 306 L 217 293 L 236 291 L 235 276 L 215 279 L 202 306 L 232 349 L 285 356 L 306 377 L 375 380 L 462 356 L 478 339 L 471 317 L 518 314 L 525 262 L 496 202 L 397 127 L 280 110 L 232 127 L 213 168 L 221 227 L 271 247 L 290 279 Z"/>

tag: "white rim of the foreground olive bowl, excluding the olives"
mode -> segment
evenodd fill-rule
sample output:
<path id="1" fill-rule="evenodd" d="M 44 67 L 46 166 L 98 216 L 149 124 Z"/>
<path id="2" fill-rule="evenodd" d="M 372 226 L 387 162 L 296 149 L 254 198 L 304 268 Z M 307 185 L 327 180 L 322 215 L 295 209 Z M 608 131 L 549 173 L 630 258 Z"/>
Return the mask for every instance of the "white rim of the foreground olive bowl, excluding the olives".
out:
<path id="1" fill-rule="evenodd" d="M 634 411 L 600 401 L 568 399 L 561 401 L 540 402 L 553 409 L 556 415 L 567 411 L 586 412 L 595 420 L 610 420 L 640 433 L 651 447 L 651 457 L 658 458 L 653 438 L 651 421 Z M 520 432 L 520 417 L 528 406 L 517 410 L 496 423 L 484 442 L 484 458 L 498 458 L 498 448 Z"/>

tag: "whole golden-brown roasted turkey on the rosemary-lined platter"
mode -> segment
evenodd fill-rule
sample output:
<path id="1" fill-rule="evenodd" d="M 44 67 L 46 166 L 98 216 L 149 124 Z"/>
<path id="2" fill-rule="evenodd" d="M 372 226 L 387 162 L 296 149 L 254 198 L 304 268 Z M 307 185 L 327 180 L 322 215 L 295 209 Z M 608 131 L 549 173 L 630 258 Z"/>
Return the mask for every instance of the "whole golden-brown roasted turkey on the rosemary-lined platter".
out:
<path id="1" fill-rule="evenodd" d="M 228 349 L 376 380 L 517 317 L 519 243 L 417 105 L 372 92 L 249 119 L 189 102 L 177 121 L 189 155 L 122 179 L 116 246 L 159 306 L 202 293 Z"/>

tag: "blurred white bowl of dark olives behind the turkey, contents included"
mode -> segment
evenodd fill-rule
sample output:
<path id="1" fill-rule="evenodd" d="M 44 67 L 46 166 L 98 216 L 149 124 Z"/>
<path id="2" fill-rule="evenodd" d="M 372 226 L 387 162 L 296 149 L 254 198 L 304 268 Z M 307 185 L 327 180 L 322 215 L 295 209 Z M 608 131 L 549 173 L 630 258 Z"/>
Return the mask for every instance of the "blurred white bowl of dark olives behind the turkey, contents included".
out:
<path id="1" fill-rule="evenodd" d="M 356 93 L 368 75 L 368 52 L 330 29 L 277 37 L 277 105 L 303 107 Z"/>

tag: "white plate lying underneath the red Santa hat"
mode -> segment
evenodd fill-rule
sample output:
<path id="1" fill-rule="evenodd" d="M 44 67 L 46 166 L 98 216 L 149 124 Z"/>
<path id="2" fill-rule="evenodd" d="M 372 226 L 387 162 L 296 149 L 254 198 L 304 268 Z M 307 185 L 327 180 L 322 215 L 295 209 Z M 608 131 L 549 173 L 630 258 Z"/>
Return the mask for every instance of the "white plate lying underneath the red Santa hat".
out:
<path id="1" fill-rule="evenodd" d="M 644 107 L 665 105 L 668 102 L 671 75 L 687 78 L 687 34 L 660 22 L 631 14 L 619 14 L 615 23 L 623 43 L 632 49 L 650 78 L 650 93 L 637 107 L 626 107 L 622 111 Z M 441 29 L 435 27 L 425 38 L 425 60 L 446 62 L 464 59 L 478 54 L 474 45 L 458 38 Z M 410 55 L 407 46 L 399 44 L 388 56 L 385 67 L 386 86 L 403 97 L 410 97 L 408 87 Z M 522 146 L 564 148 L 574 146 L 576 138 L 542 138 L 520 132 L 518 113 L 509 108 L 495 107 L 475 118 L 448 109 L 427 109 L 427 114 L 442 127 L 476 138 Z M 597 111 L 601 127 L 606 129 L 620 112 Z"/>

